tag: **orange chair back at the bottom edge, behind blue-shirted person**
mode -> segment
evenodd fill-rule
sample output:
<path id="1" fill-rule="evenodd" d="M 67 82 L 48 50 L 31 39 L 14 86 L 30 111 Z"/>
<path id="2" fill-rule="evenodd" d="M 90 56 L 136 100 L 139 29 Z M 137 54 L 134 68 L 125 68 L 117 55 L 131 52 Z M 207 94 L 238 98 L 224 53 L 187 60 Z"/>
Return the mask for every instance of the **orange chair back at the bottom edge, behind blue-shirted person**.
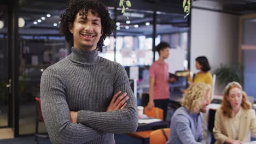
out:
<path id="1" fill-rule="evenodd" d="M 149 134 L 149 144 L 165 144 L 169 139 L 170 128 L 154 130 Z"/>

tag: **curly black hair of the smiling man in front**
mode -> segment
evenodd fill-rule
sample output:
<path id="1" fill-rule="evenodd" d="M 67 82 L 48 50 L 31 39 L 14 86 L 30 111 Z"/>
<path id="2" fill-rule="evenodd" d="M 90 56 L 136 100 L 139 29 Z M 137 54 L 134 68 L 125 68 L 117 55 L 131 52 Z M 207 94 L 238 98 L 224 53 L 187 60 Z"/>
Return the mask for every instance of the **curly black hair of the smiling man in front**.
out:
<path id="1" fill-rule="evenodd" d="M 102 52 L 103 41 L 117 27 L 115 22 L 110 18 L 108 9 L 101 1 L 96 0 L 70 0 L 65 9 L 65 12 L 60 16 L 60 33 L 65 35 L 67 43 L 74 45 L 73 34 L 69 31 L 69 25 L 73 24 L 75 16 L 79 13 L 80 16 L 87 17 L 88 11 L 91 10 L 92 15 L 101 18 L 103 34 L 97 43 L 98 51 Z"/>

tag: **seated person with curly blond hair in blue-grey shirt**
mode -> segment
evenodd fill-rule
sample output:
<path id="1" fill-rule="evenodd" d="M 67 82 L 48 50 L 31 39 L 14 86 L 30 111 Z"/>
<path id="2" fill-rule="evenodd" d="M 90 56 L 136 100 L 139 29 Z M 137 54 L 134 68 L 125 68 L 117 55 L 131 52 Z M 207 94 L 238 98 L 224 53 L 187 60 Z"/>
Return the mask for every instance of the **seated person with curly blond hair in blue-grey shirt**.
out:
<path id="1" fill-rule="evenodd" d="M 171 119 L 170 137 L 167 144 L 205 143 L 202 133 L 202 116 L 210 104 L 211 88 L 205 83 L 193 83 L 183 95 L 182 107 Z"/>

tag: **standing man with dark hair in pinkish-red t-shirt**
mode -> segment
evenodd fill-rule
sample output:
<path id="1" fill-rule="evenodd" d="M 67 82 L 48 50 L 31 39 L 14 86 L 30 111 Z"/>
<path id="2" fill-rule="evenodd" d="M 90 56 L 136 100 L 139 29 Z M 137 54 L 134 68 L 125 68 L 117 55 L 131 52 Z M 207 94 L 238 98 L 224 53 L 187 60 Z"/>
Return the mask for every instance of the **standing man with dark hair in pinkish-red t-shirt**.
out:
<path id="1" fill-rule="evenodd" d="M 149 67 L 149 101 L 146 106 L 148 110 L 154 106 L 163 109 L 164 120 L 167 112 L 168 98 L 170 97 L 168 82 L 176 80 L 174 77 L 169 79 L 168 65 L 164 62 L 169 55 L 169 49 L 170 45 L 164 41 L 156 46 L 159 59 Z"/>

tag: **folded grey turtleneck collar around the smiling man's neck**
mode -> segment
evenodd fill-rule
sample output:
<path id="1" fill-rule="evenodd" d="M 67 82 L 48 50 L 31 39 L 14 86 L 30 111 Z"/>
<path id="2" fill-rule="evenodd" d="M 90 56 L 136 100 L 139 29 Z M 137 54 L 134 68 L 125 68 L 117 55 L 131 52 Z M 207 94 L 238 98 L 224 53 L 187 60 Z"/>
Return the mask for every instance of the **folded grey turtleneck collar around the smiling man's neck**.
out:
<path id="1" fill-rule="evenodd" d="M 76 63 L 93 65 L 98 62 L 98 51 L 97 49 L 93 51 L 86 51 L 72 47 L 72 53 L 69 55 L 69 59 Z"/>

